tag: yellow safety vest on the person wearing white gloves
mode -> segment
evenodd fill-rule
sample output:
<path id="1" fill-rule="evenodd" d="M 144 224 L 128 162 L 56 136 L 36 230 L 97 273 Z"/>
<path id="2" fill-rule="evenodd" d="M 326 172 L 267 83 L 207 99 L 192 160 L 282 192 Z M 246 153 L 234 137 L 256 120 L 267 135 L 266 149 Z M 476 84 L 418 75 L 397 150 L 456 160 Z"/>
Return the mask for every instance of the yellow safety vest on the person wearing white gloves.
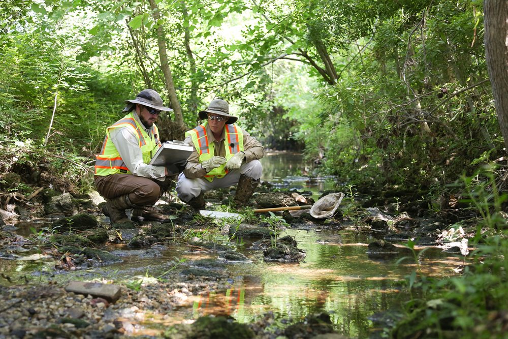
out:
<path id="1" fill-rule="evenodd" d="M 194 147 L 199 154 L 199 162 L 202 163 L 214 156 L 215 146 L 212 143 L 208 143 L 208 136 L 206 135 L 206 126 L 208 121 L 204 124 L 199 125 L 193 130 L 185 132 L 185 137 L 191 137 Z M 226 135 L 224 138 L 224 146 L 226 148 L 226 160 L 230 160 L 235 153 L 243 151 L 243 132 L 242 129 L 236 125 L 225 126 Z M 224 168 L 226 164 L 220 165 L 206 173 L 205 179 L 212 181 L 213 178 L 222 178 L 228 174 L 228 170 Z"/>

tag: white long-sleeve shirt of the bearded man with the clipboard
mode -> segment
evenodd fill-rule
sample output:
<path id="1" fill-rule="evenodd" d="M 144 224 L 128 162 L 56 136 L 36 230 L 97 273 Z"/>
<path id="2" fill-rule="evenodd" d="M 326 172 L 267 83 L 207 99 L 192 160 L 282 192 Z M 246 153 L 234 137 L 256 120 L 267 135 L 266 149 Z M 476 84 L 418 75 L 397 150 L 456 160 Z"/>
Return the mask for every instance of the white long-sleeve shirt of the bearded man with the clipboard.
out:
<path id="1" fill-rule="evenodd" d="M 154 128 L 153 126 L 147 129 L 143 126 L 137 114 L 134 114 L 134 118 L 138 120 L 140 126 L 147 131 L 148 135 L 153 136 L 153 133 L 150 133 Z M 115 128 L 111 130 L 109 136 L 118 153 L 120 153 L 125 166 L 127 166 L 132 174 L 164 181 L 166 168 L 164 166 L 148 165 L 143 162 L 143 153 L 139 147 L 139 140 L 132 129 L 127 127 Z"/>

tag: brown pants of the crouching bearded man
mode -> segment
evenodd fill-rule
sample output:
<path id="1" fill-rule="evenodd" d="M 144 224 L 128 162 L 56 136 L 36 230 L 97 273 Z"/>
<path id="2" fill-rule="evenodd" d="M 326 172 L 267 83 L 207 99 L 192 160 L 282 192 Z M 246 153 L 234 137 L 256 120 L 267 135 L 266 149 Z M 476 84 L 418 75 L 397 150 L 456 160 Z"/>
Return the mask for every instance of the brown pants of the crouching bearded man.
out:
<path id="1" fill-rule="evenodd" d="M 137 206 L 153 205 L 173 183 L 172 177 L 167 176 L 164 181 L 149 179 L 132 174 L 112 174 L 95 176 L 95 186 L 106 199 L 128 194 L 131 203 Z"/>

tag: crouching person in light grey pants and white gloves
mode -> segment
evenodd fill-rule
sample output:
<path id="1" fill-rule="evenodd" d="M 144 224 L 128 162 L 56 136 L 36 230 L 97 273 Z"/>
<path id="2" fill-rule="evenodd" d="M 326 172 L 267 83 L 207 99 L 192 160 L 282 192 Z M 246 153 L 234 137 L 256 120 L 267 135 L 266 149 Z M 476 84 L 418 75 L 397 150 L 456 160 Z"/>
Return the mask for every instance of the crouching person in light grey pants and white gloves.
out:
<path id="1" fill-rule="evenodd" d="M 194 151 L 178 176 L 178 197 L 201 209 L 205 206 L 203 192 L 237 184 L 233 202 L 245 206 L 260 182 L 263 146 L 234 124 L 238 118 L 229 114 L 225 100 L 212 100 L 199 118 L 206 121 L 185 132 L 184 142 L 193 145 Z"/>

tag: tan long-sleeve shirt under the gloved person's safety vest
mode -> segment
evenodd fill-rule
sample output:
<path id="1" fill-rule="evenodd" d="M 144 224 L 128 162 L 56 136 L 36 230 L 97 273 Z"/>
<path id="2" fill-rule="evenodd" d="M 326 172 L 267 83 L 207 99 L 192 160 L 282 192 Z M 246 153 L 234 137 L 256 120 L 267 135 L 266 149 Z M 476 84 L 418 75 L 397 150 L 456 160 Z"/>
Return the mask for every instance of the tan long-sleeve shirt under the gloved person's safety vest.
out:
<path id="1" fill-rule="evenodd" d="M 248 134 L 244 129 L 242 129 L 242 133 L 244 148 L 243 152 L 245 153 L 244 162 L 248 163 L 249 161 L 259 160 L 263 158 L 263 156 L 265 155 L 265 150 L 263 149 L 261 143 L 258 140 L 256 140 L 256 138 L 251 137 L 250 134 Z M 220 136 L 220 139 L 215 140 L 215 137 L 213 136 L 213 133 L 210 130 L 210 126 L 207 125 L 206 135 L 208 137 L 208 142 L 214 143 L 215 149 L 213 155 L 219 157 L 226 157 L 226 147 L 224 145 L 224 138 L 226 137 L 225 129 L 223 129 L 223 133 Z M 194 146 L 192 138 L 190 137 L 185 138 L 184 142 Z M 188 179 L 199 178 L 205 176 L 206 174 L 206 171 L 203 168 L 201 168 L 201 163 L 199 162 L 199 153 L 196 150 L 196 147 L 194 147 L 193 152 L 190 153 L 190 156 L 187 159 L 187 166 L 185 166 L 183 174 Z"/>

